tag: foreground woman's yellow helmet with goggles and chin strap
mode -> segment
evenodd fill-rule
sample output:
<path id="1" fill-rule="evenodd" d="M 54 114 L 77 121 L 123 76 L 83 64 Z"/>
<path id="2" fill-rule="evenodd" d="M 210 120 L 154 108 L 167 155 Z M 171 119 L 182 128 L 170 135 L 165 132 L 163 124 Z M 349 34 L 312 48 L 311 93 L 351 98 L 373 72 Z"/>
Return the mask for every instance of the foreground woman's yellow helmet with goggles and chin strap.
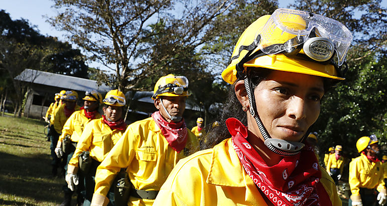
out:
<path id="1" fill-rule="evenodd" d="M 277 9 L 272 15 L 260 17 L 242 33 L 222 77 L 230 84 L 244 80 L 249 112 L 271 151 L 282 156 L 296 155 L 305 146 L 302 141 L 306 137 L 300 142 L 270 137 L 256 111 L 249 69 L 267 68 L 343 80 L 347 69 L 344 59 L 352 39 L 350 31 L 336 20 L 291 9 Z"/>

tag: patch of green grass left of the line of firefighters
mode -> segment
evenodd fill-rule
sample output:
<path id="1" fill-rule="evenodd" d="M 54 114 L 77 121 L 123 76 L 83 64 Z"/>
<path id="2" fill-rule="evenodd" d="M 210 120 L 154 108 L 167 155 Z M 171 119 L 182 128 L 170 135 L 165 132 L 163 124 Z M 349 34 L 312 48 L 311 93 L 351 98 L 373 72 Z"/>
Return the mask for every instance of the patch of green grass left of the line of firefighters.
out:
<path id="1" fill-rule="evenodd" d="M 58 205 L 63 200 L 64 179 L 51 175 L 44 126 L 0 117 L 0 205 Z"/>

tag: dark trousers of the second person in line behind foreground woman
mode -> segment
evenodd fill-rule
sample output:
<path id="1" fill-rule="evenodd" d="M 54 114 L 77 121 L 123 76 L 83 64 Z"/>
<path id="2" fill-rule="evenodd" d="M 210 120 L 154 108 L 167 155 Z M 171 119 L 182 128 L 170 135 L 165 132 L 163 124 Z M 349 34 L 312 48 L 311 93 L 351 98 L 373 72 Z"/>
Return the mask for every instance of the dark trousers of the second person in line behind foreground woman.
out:
<path id="1" fill-rule="evenodd" d="M 83 206 L 89 206 L 91 204 L 92 195 L 94 193 L 95 187 L 95 172 L 96 168 L 101 164 L 101 162 L 91 158 L 90 171 L 84 175 L 84 185 L 85 185 L 85 197 Z M 114 187 L 110 187 L 107 197 L 109 198 L 108 206 L 114 206 Z"/>

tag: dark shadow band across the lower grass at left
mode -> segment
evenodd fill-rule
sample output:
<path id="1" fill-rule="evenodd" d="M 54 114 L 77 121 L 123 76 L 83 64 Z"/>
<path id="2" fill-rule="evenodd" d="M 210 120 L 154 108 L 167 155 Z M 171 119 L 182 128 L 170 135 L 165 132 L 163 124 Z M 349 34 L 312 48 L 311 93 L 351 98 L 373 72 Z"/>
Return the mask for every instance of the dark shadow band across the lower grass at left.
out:
<path id="1" fill-rule="evenodd" d="M 30 197 L 38 202 L 60 202 L 64 179 L 51 176 L 51 159 L 48 154 L 20 157 L 0 152 L 0 157 L 0 165 L 4 165 L 0 167 L 2 193 Z M 24 203 L 15 202 L 13 205 Z"/>

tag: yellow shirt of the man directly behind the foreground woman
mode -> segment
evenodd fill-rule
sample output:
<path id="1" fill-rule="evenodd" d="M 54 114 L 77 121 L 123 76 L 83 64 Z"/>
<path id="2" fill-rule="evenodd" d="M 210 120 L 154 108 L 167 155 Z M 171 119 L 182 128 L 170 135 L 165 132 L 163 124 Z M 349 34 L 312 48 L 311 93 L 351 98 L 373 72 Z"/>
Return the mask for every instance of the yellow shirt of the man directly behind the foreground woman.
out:
<path id="1" fill-rule="evenodd" d="M 199 145 L 196 136 L 188 129 L 187 132 L 185 148 L 178 153 L 169 146 L 152 117 L 129 125 L 98 167 L 94 195 L 107 195 L 120 168 L 126 168 L 136 189 L 159 190 L 176 163 Z M 152 205 L 153 201 L 131 196 L 128 205 Z"/>

